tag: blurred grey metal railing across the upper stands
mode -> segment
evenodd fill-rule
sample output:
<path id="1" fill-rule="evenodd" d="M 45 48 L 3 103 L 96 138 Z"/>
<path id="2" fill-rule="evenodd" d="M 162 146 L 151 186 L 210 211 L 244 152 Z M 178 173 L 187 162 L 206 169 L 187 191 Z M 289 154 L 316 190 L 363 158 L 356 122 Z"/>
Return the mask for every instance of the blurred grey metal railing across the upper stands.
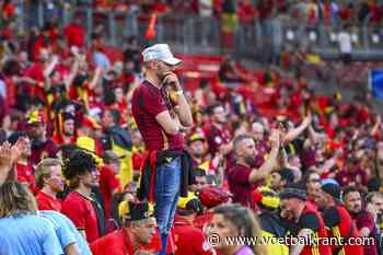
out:
<path id="1" fill-rule="evenodd" d="M 148 44 L 144 32 L 149 15 L 142 13 L 97 11 L 92 8 L 91 0 L 74 4 L 71 0 L 56 0 L 60 5 L 50 10 L 46 1 L 37 4 L 19 3 L 18 27 L 25 32 L 28 27 L 44 26 L 44 23 L 56 15 L 60 27 L 65 27 L 72 19 L 80 19 L 86 30 L 88 42 L 96 24 L 102 24 L 107 42 L 112 46 L 121 46 L 124 39 L 137 35 L 140 43 Z M 72 3 L 72 4 L 70 4 Z M 282 47 L 311 47 L 316 51 L 335 57 L 338 54 L 336 26 L 307 26 L 289 18 L 276 18 L 268 21 L 255 20 L 252 25 L 239 25 L 233 32 L 232 47 L 222 45 L 221 21 L 218 18 L 197 15 L 159 16 L 154 42 L 172 44 L 182 53 L 232 53 L 237 55 L 272 59 Z M 367 23 L 355 26 L 350 31 L 353 54 L 360 58 L 383 57 L 383 30 Z"/>

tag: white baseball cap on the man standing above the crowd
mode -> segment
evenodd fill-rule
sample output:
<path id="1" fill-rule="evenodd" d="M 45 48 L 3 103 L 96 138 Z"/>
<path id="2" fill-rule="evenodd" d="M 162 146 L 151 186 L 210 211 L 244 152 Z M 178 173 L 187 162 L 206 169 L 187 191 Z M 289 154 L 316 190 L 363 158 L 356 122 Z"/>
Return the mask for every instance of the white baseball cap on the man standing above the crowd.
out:
<path id="1" fill-rule="evenodd" d="M 177 66 L 182 62 L 175 58 L 167 44 L 154 44 L 142 51 L 143 61 L 161 60 L 171 66 Z"/>

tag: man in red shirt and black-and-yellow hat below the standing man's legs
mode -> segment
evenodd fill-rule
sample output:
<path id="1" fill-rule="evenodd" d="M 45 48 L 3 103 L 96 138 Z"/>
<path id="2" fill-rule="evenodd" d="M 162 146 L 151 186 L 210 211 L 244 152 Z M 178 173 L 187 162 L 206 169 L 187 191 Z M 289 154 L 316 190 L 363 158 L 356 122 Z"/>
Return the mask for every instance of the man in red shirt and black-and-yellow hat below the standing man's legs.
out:
<path id="1" fill-rule="evenodd" d="M 94 255 L 134 255 L 144 251 L 155 233 L 155 219 L 147 202 L 120 205 L 124 227 L 91 244 Z"/>

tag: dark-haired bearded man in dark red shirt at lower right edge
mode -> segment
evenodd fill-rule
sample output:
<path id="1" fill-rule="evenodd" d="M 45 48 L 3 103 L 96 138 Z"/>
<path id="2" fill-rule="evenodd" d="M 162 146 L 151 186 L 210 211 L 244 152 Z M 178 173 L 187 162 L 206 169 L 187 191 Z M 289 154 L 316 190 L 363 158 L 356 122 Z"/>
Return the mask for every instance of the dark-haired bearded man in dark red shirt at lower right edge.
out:
<path id="1" fill-rule="evenodd" d="M 355 186 L 347 186 L 343 193 L 343 200 L 347 211 L 357 223 L 357 229 L 361 237 L 369 237 L 368 243 L 363 245 L 364 254 L 376 255 L 376 233 L 378 229 L 373 216 L 362 207 L 362 197 Z M 371 243 L 371 240 L 374 242 Z"/>

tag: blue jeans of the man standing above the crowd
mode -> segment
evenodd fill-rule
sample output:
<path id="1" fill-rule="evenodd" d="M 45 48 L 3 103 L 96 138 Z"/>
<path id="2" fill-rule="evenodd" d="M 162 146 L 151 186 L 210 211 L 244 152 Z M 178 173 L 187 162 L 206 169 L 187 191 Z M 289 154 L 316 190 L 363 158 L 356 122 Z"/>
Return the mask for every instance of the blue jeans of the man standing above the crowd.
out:
<path id="1" fill-rule="evenodd" d="M 156 167 L 155 173 L 155 218 L 161 234 L 162 251 L 166 254 L 167 235 L 173 225 L 181 185 L 181 158 Z"/>

